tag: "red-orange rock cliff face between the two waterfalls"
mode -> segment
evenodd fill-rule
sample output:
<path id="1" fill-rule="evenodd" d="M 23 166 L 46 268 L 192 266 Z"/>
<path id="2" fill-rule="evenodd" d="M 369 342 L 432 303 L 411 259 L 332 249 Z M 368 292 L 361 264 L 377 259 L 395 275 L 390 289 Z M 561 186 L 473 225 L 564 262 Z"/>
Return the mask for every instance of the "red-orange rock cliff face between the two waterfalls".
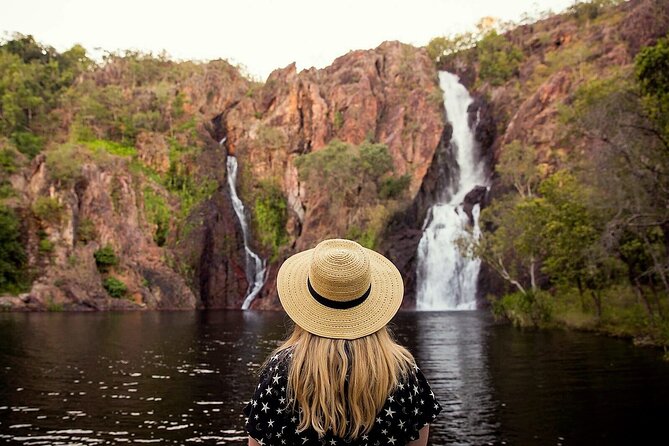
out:
<path id="1" fill-rule="evenodd" d="M 275 70 L 258 93 L 246 95 L 226 113 L 223 127 L 247 189 L 263 178 L 281 183 L 290 208 L 285 258 L 324 238 L 344 236 L 351 216 L 361 211 L 347 208 L 349 215 L 328 217 L 327 191 L 298 180 L 293 164 L 298 155 L 320 150 L 335 138 L 384 143 L 394 173 L 411 177 L 409 202 L 434 158 L 444 112 L 437 73 L 424 50 L 386 42 L 374 50 L 352 51 L 322 70 L 297 73 L 294 64 Z M 265 298 L 254 306 L 277 307 L 275 274 L 273 265 Z"/>

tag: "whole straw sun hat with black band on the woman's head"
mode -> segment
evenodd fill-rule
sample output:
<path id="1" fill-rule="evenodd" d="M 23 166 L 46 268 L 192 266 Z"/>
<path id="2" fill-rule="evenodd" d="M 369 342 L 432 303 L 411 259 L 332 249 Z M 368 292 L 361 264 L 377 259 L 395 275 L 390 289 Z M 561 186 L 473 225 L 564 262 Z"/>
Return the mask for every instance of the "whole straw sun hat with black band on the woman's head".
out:
<path id="1" fill-rule="evenodd" d="M 404 296 L 402 276 L 381 254 L 352 240 L 324 240 L 288 258 L 277 276 L 279 300 L 306 331 L 356 339 L 386 325 Z"/>

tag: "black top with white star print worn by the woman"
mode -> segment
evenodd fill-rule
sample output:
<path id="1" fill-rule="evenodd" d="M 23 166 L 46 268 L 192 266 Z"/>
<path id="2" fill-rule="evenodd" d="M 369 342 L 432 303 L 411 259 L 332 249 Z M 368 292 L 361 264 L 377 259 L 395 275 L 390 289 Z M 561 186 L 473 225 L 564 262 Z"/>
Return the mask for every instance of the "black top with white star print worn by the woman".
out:
<path id="1" fill-rule="evenodd" d="M 292 353 L 285 351 L 272 357 L 261 372 L 253 399 L 244 408 L 246 431 L 261 446 L 403 446 L 418 439 L 418 431 L 441 412 L 441 405 L 423 372 L 414 366 L 408 378 L 388 395 L 369 434 L 347 442 L 330 432 L 319 439 L 311 427 L 298 432 L 299 413 L 292 411 L 292 400 L 286 397 L 287 369 L 291 357 Z"/>

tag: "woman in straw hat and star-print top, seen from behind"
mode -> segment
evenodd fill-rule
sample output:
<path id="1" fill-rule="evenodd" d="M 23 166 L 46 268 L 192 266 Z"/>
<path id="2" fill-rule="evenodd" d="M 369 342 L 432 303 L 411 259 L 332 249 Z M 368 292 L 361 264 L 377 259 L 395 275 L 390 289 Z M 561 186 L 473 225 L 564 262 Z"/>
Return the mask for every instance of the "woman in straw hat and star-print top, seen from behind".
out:
<path id="1" fill-rule="evenodd" d="M 244 408 L 249 445 L 426 445 L 441 411 L 386 327 L 402 303 L 395 266 L 351 240 L 286 260 L 279 300 L 295 323 Z"/>

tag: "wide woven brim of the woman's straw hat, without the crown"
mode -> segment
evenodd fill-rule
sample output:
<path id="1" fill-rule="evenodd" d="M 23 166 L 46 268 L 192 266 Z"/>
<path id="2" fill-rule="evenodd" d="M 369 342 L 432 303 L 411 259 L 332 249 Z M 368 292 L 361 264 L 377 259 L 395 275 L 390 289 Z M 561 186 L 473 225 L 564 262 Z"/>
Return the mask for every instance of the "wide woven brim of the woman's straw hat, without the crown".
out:
<path id="1" fill-rule="evenodd" d="M 372 289 L 364 302 L 347 309 L 325 306 L 309 293 L 307 277 L 314 249 L 283 262 L 277 275 L 277 292 L 288 316 L 310 333 L 335 339 L 361 338 L 390 322 L 404 297 L 402 275 L 390 260 L 364 249 L 370 260 Z"/>

